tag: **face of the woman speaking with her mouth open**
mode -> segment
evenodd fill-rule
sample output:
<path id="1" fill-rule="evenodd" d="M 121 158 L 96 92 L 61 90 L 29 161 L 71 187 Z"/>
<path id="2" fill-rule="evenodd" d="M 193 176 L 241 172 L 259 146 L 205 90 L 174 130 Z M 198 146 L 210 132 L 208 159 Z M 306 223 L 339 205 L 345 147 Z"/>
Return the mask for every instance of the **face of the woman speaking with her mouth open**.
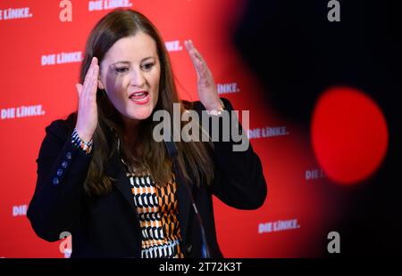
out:
<path id="1" fill-rule="evenodd" d="M 155 40 L 143 32 L 118 40 L 100 64 L 98 86 L 128 124 L 148 118 L 159 94 L 161 66 Z"/>

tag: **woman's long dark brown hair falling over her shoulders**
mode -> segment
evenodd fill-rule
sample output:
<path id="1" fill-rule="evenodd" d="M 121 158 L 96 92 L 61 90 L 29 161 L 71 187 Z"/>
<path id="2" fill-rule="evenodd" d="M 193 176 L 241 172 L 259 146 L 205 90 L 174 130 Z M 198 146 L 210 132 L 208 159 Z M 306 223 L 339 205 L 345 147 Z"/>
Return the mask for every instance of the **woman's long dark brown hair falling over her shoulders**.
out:
<path id="1" fill-rule="evenodd" d="M 107 13 L 96 23 L 92 29 L 84 58 L 80 69 L 80 83 L 82 84 L 88 72 L 93 57 L 99 64 L 103 61 L 105 53 L 112 45 L 123 37 L 135 36 L 144 32 L 154 38 L 159 61 L 161 76 L 159 84 L 159 98 L 155 110 L 167 110 L 172 118 L 173 103 L 181 103 L 173 80 L 171 62 L 165 45 L 157 29 L 150 20 L 140 12 L 117 9 Z M 105 165 L 113 157 L 120 154 L 120 158 L 134 167 L 135 171 L 147 171 L 157 185 L 164 185 L 172 180 L 172 160 L 167 154 L 163 142 L 155 142 L 152 136 L 153 129 L 158 122 L 153 122 L 151 116 L 139 124 L 137 145 L 141 150 L 125 142 L 124 124 L 121 114 L 114 108 L 105 91 L 97 89 L 96 103 L 98 110 L 98 125 L 94 139 L 93 158 L 89 165 L 85 182 L 88 194 L 105 194 L 112 190 L 113 179 L 105 174 Z M 185 109 L 180 104 L 180 112 Z M 155 112 L 154 110 L 154 112 Z M 120 144 L 120 150 L 118 150 Z M 197 184 L 210 184 L 214 178 L 214 165 L 211 158 L 211 142 L 176 142 L 178 147 L 178 166 L 184 175 L 185 182 Z M 118 150 L 118 152 L 116 152 Z M 141 153 L 138 153 L 141 152 Z"/>

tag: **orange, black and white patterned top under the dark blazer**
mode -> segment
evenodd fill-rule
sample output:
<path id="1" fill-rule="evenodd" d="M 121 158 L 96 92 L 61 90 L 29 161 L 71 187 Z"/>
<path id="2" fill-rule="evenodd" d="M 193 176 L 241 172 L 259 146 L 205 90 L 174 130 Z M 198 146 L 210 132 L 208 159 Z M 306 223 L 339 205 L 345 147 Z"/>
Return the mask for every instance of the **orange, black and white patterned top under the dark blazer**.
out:
<path id="1" fill-rule="evenodd" d="M 180 258 L 180 225 L 174 175 L 165 186 L 152 177 L 128 173 L 141 229 L 142 258 Z"/>

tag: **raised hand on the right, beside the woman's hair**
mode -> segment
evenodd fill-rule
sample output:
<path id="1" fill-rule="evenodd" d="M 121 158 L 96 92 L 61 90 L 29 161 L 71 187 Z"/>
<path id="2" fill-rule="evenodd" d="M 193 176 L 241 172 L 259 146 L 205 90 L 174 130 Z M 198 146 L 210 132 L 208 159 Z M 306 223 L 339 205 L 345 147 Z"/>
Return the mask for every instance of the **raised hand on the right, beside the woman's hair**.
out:
<path id="1" fill-rule="evenodd" d="M 222 101 L 219 98 L 210 69 L 191 40 L 184 41 L 184 45 L 197 72 L 199 101 L 202 102 L 206 110 L 221 110 Z"/>

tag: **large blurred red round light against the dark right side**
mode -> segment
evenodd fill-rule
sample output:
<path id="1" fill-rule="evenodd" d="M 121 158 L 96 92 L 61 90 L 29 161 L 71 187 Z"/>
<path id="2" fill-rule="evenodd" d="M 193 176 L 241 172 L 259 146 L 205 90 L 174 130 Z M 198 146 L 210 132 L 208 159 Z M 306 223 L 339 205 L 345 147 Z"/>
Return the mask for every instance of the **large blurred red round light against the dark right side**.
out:
<path id="1" fill-rule="evenodd" d="M 381 165 L 387 123 L 378 105 L 348 86 L 331 87 L 317 101 L 312 126 L 315 156 L 333 181 L 358 183 Z"/>

